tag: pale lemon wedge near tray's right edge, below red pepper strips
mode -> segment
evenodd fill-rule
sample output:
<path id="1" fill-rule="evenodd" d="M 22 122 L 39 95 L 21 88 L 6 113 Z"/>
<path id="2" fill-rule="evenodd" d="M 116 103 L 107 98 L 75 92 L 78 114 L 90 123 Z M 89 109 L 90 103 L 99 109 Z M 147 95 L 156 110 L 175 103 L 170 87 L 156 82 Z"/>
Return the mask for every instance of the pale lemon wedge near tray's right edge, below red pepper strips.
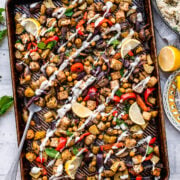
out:
<path id="1" fill-rule="evenodd" d="M 136 102 L 133 103 L 129 109 L 129 117 L 135 124 L 138 125 L 145 124 L 140 108 Z"/>

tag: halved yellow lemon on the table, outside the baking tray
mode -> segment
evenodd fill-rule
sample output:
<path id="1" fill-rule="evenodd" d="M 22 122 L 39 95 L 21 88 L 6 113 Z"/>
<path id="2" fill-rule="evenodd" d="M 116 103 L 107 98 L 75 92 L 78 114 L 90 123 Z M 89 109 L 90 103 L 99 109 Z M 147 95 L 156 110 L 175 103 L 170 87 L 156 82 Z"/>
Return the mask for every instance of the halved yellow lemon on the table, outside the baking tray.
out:
<path id="1" fill-rule="evenodd" d="M 163 71 L 175 71 L 180 68 L 180 50 L 173 46 L 166 46 L 161 49 L 158 60 Z"/>

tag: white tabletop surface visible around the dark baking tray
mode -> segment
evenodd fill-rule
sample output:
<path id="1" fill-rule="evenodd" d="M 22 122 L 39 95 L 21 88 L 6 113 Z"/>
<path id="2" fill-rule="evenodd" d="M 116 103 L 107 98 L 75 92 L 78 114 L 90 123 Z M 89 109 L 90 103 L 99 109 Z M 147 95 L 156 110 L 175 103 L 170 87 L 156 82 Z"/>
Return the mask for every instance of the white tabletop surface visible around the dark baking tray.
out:
<path id="1" fill-rule="evenodd" d="M 5 0 L 0 0 L 0 7 L 4 7 Z M 156 32 L 157 49 L 166 44 Z M 7 37 L 0 43 L 0 96 L 12 95 L 11 72 L 9 63 L 9 52 Z M 167 74 L 161 73 L 161 86 L 163 89 Z M 170 180 L 180 179 L 180 132 L 178 132 L 165 117 L 166 134 L 168 142 L 168 153 L 170 162 Z M 8 172 L 13 156 L 17 148 L 16 126 L 13 107 L 0 117 L 0 180 L 3 180 Z M 17 180 L 20 180 L 18 171 Z"/>

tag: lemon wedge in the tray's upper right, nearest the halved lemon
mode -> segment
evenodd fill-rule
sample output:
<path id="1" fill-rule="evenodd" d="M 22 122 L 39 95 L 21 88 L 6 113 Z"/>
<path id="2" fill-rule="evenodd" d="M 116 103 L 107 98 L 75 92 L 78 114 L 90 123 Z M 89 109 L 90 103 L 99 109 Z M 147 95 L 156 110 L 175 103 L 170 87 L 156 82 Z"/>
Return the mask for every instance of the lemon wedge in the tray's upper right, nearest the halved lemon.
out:
<path id="1" fill-rule="evenodd" d="M 124 58 L 128 54 L 129 51 L 136 48 L 139 44 L 141 44 L 141 42 L 136 39 L 127 39 L 125 42 L 123 42 L 122 47 L 121 47 L 122 58 Z"/>

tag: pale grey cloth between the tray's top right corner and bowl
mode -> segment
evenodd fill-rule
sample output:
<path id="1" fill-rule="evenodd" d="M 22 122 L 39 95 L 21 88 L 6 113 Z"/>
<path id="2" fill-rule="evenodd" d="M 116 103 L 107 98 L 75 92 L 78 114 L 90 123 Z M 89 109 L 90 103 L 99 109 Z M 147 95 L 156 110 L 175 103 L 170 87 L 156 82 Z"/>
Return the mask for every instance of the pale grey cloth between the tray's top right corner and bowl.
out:
<path id="1" fill-rule="evenodd" d="M 163 19 L 158 14 L 157 6 L 155 5 L 155 0 L 152 0 L 153 15 L 155 17 L 154 27 L 155 30 L 160 35 L 161 39 L 165 41 L 168 45 L 173 45 L 180 48 L 180 35 L 178 36 L 174 31 L 172 31 Z"/>

